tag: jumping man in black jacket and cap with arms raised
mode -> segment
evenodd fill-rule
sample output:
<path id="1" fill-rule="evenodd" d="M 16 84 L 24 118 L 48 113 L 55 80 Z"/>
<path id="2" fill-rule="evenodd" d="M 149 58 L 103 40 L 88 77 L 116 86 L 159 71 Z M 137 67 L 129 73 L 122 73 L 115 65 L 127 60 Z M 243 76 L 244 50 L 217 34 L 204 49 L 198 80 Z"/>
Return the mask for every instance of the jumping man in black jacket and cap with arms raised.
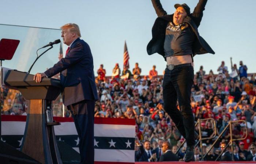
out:
<path id="1" fill-rule="evenodd" d="M 207 0 L 199 0 L 193 13 L 187 4 L 175 4 L 176 11 L 167 15 L 160 0 L 151 0 L 158 18 L 147 45 L 148 55 L 158 53 L 166 62 L 163 79 L 164 109 L 187 140 L 185 162 L 194 160 L 195 127 L 190 105 L 193 85 L 193 56 L 215 52 L 199 35 L 197 28 L 203 17 Z M 180 110 L 176 107 L 176 102 Z"/>

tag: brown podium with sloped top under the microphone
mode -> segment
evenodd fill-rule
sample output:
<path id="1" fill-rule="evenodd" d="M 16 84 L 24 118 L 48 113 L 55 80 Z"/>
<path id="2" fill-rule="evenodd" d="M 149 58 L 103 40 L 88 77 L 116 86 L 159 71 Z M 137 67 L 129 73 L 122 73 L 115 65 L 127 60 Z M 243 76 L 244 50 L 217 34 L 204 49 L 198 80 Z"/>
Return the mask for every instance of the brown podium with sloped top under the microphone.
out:
<path id="1" fill-rule="evenodd" d="M 28 100 L 21 151 L 42 164 L 62 164 L 53 127 L 60 122 L 46 120 L 46 108 L 52 109 L 52 101 L 61 92 L 60 81 L 42 78 L 42 82 L 36 83 L 34 75 L 3 67 L 2 73 L 3 85 L 19 90 Z"/>

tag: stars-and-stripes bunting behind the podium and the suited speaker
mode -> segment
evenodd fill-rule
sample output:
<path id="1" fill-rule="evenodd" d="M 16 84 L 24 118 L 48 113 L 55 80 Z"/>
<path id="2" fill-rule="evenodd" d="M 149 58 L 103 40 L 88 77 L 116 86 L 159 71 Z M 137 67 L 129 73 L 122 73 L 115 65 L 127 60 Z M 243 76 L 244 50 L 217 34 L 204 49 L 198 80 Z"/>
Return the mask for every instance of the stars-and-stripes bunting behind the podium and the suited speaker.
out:
<path id="1" fill-rule="evenodd" d="M 53 120 L 61 122 L 61 125 L 54 126 L 56 140 L 66 142 L 79 152 L 79 138 L 73 119 L 53 117 Z M 26 126 L 26 116 L 2 115 L 1 126 L 0 140 L 20 149 Z M 94 164 L 133 164 L 135 159 L 134 137 L 134 119 L 95 117 Z"/>

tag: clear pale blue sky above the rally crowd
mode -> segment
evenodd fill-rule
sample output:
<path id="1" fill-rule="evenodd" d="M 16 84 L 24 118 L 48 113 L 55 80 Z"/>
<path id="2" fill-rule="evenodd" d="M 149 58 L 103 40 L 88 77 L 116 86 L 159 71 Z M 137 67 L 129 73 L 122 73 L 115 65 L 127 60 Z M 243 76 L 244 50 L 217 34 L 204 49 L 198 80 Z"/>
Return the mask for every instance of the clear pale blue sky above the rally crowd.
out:
<path id="1" fill-rule="evenodd" d="M 161 0 L 161 3 L 172 14 L 174 4 L 187 3 L 193 11 L 198 0 Z M 115 63 L 122 66 L 125 40 L 131 69 L 138 62 L 143 75 L 153 65 L 157 66 L 158 74 L 163 74 L 166 67 L 161 55 L 149 56 L 146 51 L 157 18 L 150 0 L 0 0 L 0 6 L 0 24 L 56 29 L 66 23 L 78 24 L 81 39 L 91 48 L 95 72 L 100 64 L 107 75 L 112 74 Z M 233 63 L 239 65 L 242 60 L 248 73 L 256 73 L 255 6 L 255 0 L 208 0 L 198 30 L 215 55 L 196 55 L 195 72 L 203 65 L 206 73 L 211 69 L 217 73 L 222 60 L 231 72 L 232 57 Z M 56 39 L 61 39 L 60 35 Z"/>

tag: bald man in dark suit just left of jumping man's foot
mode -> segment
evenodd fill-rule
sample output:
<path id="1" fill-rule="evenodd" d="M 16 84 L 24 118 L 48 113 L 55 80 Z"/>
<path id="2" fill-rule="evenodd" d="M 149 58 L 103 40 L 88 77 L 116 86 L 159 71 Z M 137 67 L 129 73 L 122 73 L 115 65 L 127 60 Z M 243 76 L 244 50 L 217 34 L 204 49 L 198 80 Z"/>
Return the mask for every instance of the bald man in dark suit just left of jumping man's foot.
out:
<path id="1" fill-rule="evenodd" d="M 163 155 L 160 157 L 160 162 L 162 161 L 179 161 L 178 156 L 173 154 L 171 151 L 171 144 L 168 141 L 164 141 L 162 144 L 162 151 L 164 152 Z"/>

